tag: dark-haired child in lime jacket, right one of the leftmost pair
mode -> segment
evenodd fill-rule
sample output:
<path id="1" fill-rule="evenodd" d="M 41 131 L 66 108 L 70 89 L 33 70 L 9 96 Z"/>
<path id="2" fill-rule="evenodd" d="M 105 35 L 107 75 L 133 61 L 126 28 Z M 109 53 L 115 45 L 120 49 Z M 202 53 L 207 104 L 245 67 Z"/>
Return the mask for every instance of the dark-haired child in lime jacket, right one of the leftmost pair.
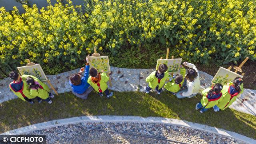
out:
<path id="1" fill-rule="evenodd" d="M 38 96 L 39 98 L 42 98 L 49 104 L 52 103 L 52 100 L 50 100 L 50 98 L 54 98 L 54 95 L 50 93 L 50 89 L 46 84 L 44 84 L 34 76 L 27 77 L 26 83 L 30 88 L 31 96 Z"/>

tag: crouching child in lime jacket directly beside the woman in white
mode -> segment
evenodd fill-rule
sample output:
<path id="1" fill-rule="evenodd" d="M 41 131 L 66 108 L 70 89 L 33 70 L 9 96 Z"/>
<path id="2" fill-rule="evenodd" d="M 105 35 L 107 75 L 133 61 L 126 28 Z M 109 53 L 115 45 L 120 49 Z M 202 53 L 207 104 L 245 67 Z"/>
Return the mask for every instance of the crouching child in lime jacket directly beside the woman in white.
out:
<path id="1" fill-rule="evenodd" d="M 176 92 L 180 91 L 180 88 L 184 83 L 185 75 L 186 69 L 183 66 L 180 66 L 180 74 L 176 74 L 170 82 L 164 85 L 164 88 L 175 95 Z"/>

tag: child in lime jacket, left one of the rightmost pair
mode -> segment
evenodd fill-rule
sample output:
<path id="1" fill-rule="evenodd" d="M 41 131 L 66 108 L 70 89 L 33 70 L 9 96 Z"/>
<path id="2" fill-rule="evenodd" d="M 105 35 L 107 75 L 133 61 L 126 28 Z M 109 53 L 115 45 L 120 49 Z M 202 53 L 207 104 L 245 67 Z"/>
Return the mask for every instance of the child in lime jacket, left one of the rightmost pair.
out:
<path id="1" fill-rule="evenodd" d="M 218 102 L 220 102 L 222 98 L 222 84 L 215 84 L 212 88 L 206 88 L 202 91 L 202 99 L 201 102 L 196 104 L 196 110 L 201 109 L 200 113 L 206 112 L 209 108 L 212 108 Z"/>

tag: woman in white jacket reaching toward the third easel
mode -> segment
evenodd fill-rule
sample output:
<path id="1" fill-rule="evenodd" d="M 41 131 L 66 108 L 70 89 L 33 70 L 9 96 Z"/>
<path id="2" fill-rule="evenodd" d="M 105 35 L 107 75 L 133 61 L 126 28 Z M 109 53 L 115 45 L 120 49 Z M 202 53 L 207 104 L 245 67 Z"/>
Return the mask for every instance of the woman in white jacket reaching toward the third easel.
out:
<path id="1" fill-rule="evenodd" d="M 200 90 L 199 73 L 194 64 L 183 62 L 183 65 L 189 67 L 184 82 L 187 88 L 177 92 L 176 96 L 177 98 L 191 98 L 196 96 Z"/>

